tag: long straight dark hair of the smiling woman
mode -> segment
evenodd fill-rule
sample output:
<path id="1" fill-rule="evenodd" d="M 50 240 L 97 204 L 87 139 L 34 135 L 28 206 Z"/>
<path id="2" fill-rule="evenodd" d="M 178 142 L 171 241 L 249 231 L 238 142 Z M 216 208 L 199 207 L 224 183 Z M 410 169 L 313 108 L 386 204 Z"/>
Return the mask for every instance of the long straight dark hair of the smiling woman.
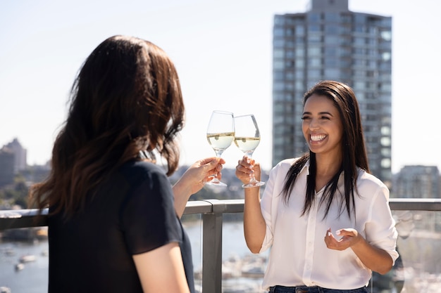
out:
<path id="1" fill-rule="evenodd" d="M 325 185 L 324 196 L 321 198 L 321 203 L 325 203 L 326 211 L 325 216 L 328 215 L 328 211 L 333 200 L 341 202 L 340 214 L 346 207 L 347 214 L 351 217 L 351 205 L 352 211 L 355 214 L 354 204 L 354 192 L 356 193 L 356 178 L 358 176 L 357 167 L 369 171 L 368 157 L 366 155 L 366 148 L 364 145 L 364 134 L 361 126 L 361 116 L 359 111 L 359 105 L 356 100 L 354 91 L 340 82 L 323 81 L 318 82 L 309 91 L 306 91 L 303 98 L 303 104 L 312 95 L 326 96 L 333 101 L 335 107 L 340 112 L 342 119 L 342 126 L 344 129 L 342 136 L 342 164 L 339 171 L 330 179 Z M 306 197 L 303 208 L 303 215 L 308 213 L 309 209 L 315 199 L 316 190 L 316 154 L 306 152 L 300 157 L 287 172 L 285 178 L 285 184 L 283 186 L 282 194 L 285 202 L 290 198 L 290 193 L 294 188 L 294 182 L 297 175 L 302 170 L 306 162 L 309 160 L 309 176 L 306 179 Z M 337 193 L 338 179 L 341 173 L 344 173 L 344 201 L 342 198 L 336 198 L 340 195 Z"/>

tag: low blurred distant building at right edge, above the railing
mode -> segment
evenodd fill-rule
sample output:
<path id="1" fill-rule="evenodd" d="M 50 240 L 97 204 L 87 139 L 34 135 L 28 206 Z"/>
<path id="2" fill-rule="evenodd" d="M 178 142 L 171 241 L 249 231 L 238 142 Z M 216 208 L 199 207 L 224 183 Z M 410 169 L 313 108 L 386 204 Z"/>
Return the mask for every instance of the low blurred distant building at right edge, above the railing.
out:
<path id="1" fill-rule="evenodd" d="M 404 166 L 396 174 L 394 197 L 440 198 L 440 171 L 436 166 Z"/>

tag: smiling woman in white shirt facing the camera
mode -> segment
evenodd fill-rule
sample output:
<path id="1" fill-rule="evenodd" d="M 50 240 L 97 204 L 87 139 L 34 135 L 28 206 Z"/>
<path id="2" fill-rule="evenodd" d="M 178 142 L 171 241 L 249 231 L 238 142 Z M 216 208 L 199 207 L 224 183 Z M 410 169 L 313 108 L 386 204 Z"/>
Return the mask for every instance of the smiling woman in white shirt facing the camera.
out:
<path id="1" fill-rule="evenodd" d="M 387 273 L 398 257 L 389 190 L 369 173 L 354 91 L 323 81 L 303 102 L 309 152 L 273 167 L 262 199 L 245 188 L 245 240 L 254 253 L 271 248 L 269 292 L 366 293 L 372 271 Z M 237 177 L 259 180 L 247 159 Z"/>

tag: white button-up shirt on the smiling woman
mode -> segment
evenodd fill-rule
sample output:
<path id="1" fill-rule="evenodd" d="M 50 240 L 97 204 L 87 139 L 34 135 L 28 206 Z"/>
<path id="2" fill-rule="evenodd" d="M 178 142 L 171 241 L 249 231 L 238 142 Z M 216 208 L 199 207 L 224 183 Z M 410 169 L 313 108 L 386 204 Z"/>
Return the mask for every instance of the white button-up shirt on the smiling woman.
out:
<path id="1" fill-rule="evenodd" d="M 275 166 L 263 192 L 261 211 L 266 221 L 266 236 L 261 252 L 269 248 L 271 252 L 262 287 L 306 285 L 356 289 L 367 285 L 371 270 L 350 248 L 328 249 L 324 237 L 329 228 L 334 235 L 336 230 L 354 228 L 395 261 L 397 230 L 388 203 L 389 190 L 378 178 L 359 169 L 356 181 L 359 195 L 354 193 L 356 216 L 352 213 L 349 219 L 343 196 L 335 197 L 328 216 L 323 219 L 325 204 L 319 204 L 323 189 L 316 193 L 309 213 L 302 216 L 309 162 L 297 176 L 289 202 L 285 203 L 282 197 L 285 176 L 295 160 L 285 159 Z M 344 195 L 342 176 L 338 187 Z M 340 209 L 341 201 L 343 209 Z"/>

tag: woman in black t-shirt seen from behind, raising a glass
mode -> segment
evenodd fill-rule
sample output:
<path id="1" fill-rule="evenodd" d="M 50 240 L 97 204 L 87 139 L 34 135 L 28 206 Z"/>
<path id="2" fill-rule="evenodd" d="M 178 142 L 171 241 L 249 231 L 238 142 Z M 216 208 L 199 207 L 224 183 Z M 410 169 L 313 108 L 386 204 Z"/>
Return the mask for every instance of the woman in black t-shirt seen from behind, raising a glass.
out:
<path id="1" fill-rule="evenodd" d="M 110 37 L 70 99 L 51 173 L 31 189 L 49 207 L 49 292 L 194 292 L 180 216 L 225 161 L 201 159 L 170 185 L 185 117 L 172 61 L 149 41 Z"/>

